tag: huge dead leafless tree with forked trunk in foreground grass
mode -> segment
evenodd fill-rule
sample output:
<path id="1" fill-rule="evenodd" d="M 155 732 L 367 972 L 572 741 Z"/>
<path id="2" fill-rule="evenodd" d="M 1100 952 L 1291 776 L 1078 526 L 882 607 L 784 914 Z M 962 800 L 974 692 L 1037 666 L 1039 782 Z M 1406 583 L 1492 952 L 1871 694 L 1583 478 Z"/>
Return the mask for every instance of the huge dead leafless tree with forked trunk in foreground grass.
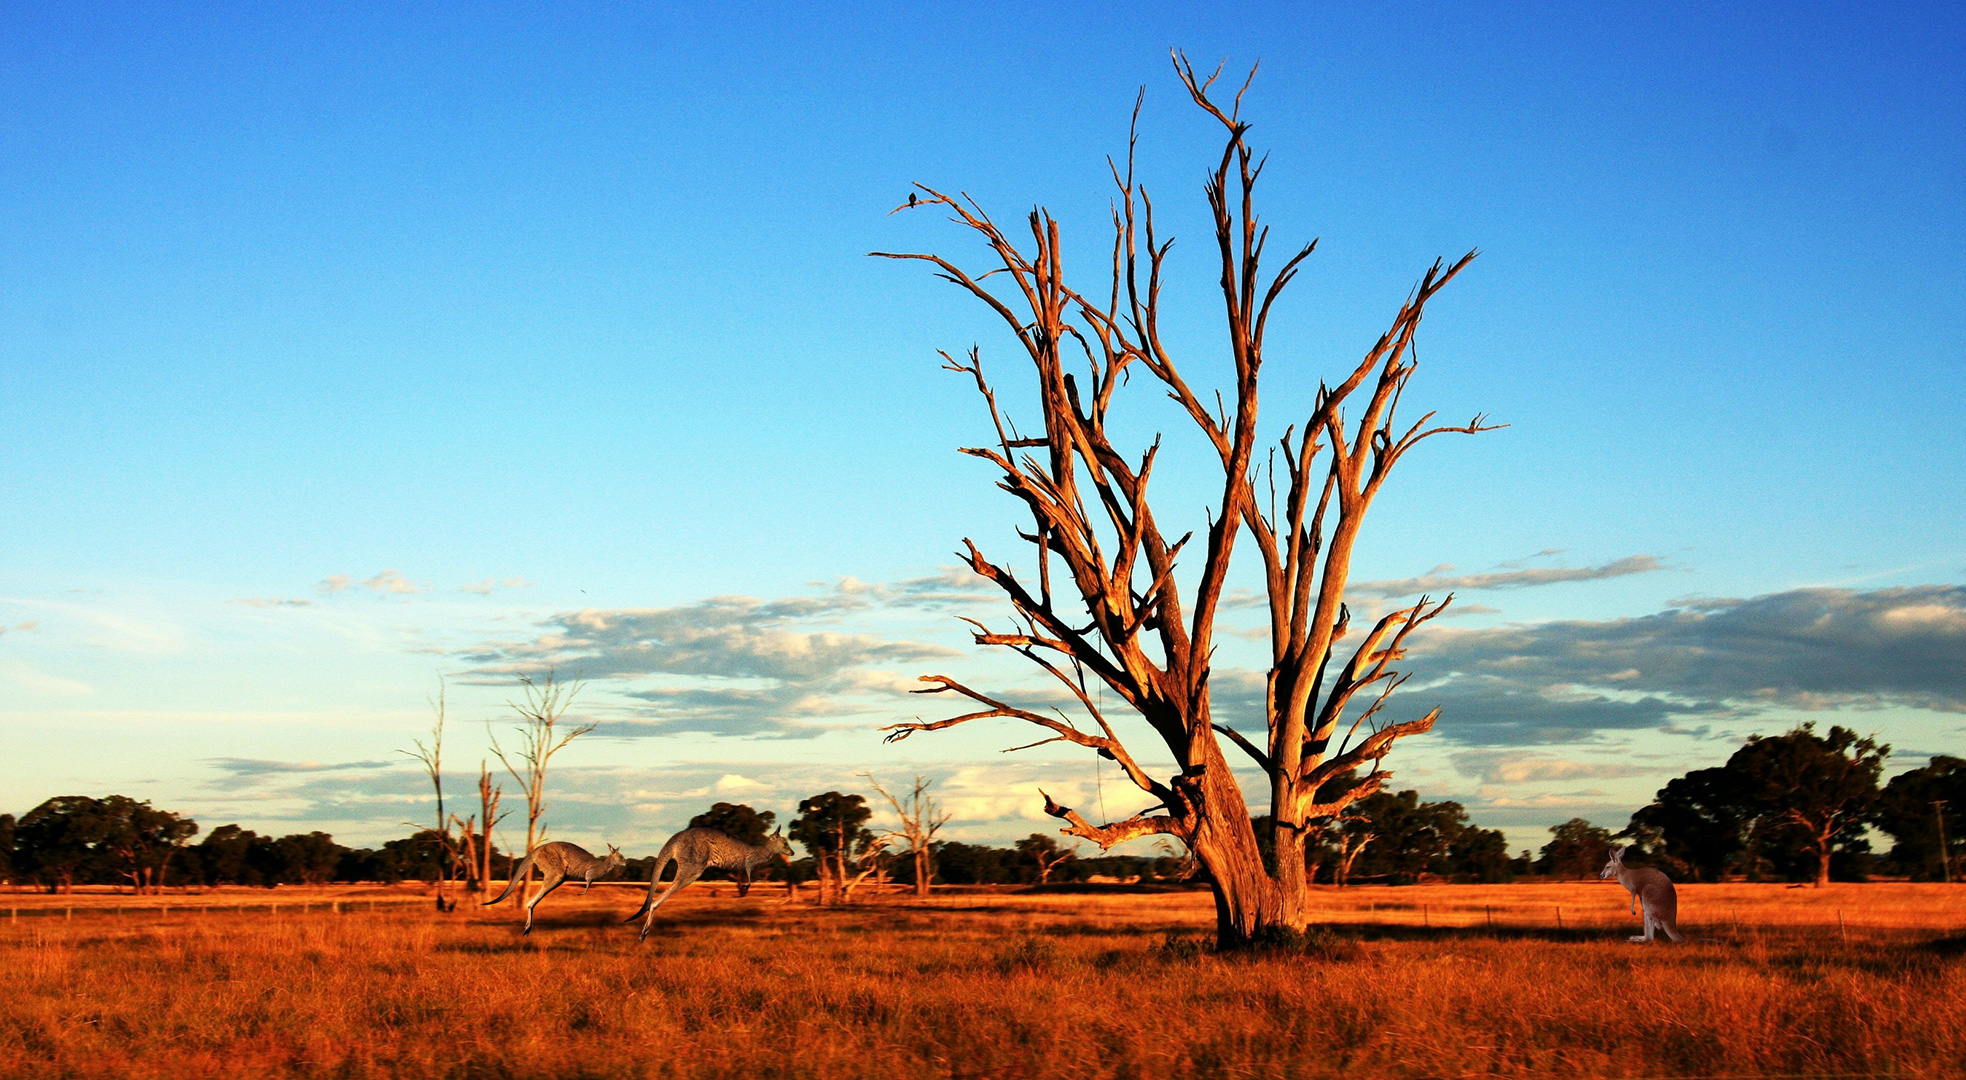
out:
<path id="1" fill-rule="evenodd" d="M 975 641 L 1012 649 L 1036 663 L 1075 696 L 1097 726 L 1083 730 L 1068 718 L 1020 708 L 948 675 L 926 675 L 922 681 L 930 687 L 916 692 L 963 696 L 977 708 L 948 720 L 893 724 L 889 740 L 1003 716 L 1050 732 L 1032 746 L 1070 742 L 1117 761 L 1127 779 L 1154 799 L 1152 807 L 1125 820 L 1095 824 L 1046 795 L 1046 812 L 1068 822 L 1062 832 L 1101 848 L 1152 834 L 1182 838 L 1213 877 L 1219 944 L 1235 946 L 1305 925 L 1307 826 L 1378 791 L 1386 777 L 1380 761 L 1392 744 L 1429 730 L 1439 716 L 1435 708 L 1414 720 L 1380 720 L 1392 690 L 1406 681 L 1394 665 L 1406 655 L 1408 637 L 1439 616 L 1451 598 L 1421 598 L 1380 618 L 1351 657 L 1339 657 L 1335 647 L 1351 626 L 1343 604 L 1345 580 L 1359 527 L 1392 466 L 1433 435 L 1488 431 L 1490 425 L 1480 415 L 1459 427 L 1429 427 L 1431 413 L 1408 425 L 1398 419 L 1402 391 L 1416 370 L 1414 334 L 1421 313 L 1474 258 L 1469 252 L 1453 264 L 1435 262 L 1419 277 L 1392 327 L 1341 382 L 1319 386 L 1303 423 L 1290 427 L 1258 466 L 1256 390 L 1264 330 L 1276 299 L 1317 244 L 1313 240 L 1292 254 L 1264 283 L 1260 262 L 1268 228 L 1258 224 L 1254 212 L 1264 161 L 1254 157 L 1246 142 L 1250 128 L 1241 118 L 1248 81 L 1225 110 L 1211 96 L 1221 69 L 1201 77 L 1182 53 L 1174 55 L 1174 65 L 1193 104 L 1225 132 L 1221 159 L 1203 189 L 1215 224 L 1227 344 L 1235 366 L 1227 401 L 1215 393 L 1211 403 L 1195 391 L 1162 342 L 1160 291 L 1172 240 L 1156 234 L 1152 199 L 1134 181 L 1138 100 L 1125 175 L 1113 163 L 1119 193 L 1113 205 L 1111 281 L 1097 291 L 1081 293 L 1066 283 L 1060 228 L 1044 209 L 1030 212 L 1030 248 L 1022 250 L 975 199 L 926 185 L 916 185 L 912 205 L 946 207 L 955 224 L 981 236 L 991 250 L 987 273 L 971 273 L 936 254 L 873 252 L 932 264 L 940 277 L 995 311 L 1032 362 L 1044 423 L 1040 431 L 1022 435 L 999 409 L 981 352 L 971 348 L 965 360 L 942 354 L 950 370 L 975 382 L 995 423 L 993 447 L 963 452 L 1001 470 L 999 486 L 1016 496 L 1032 517 L 1032 529 L 1018 535 L 1036 549 L 1032 582 L 985 557 L 973 541 L 963 541 L 963 561 L 1003 588 L 1014 614 L 1009 630 L 973 624 Z M 1250 69 L 1250 81 L 1254 75 Z M 896 212 L 902 209 L 910 207 L 896 207 Z M 987 281 L 993 275 L 999 281 Z M 1079 368 L 1085 382 L 1068 366 Z M 1148 504 L 1160 441 L 1138 458 L 1128 458 L 1109 437 L 1115 393 L 1134 368 L 1144 368 L 1187 413 L 1223 468 L 1221 502 L 1207 517 L 1201 569 L 1187 598 L 1176 578 L 1176 561 L 1193 533 L 1170 537 Z M 1351 415 L 1347 405 L 1355 407 Z M 1217 724 L 1209 704 L 1215 614 L 1237 535 L 1244 529 L 1262 559 L 1270 612 L 1266 730 L 1260 744 Z M 1058 580 L 1060 569 L 1068 580 Z M 1113 720 L 1095 704 L 1097 685 L 1117 692 L 1166 744 L 1178 763 L 1176 775 L 1158 779 L 1140 767 Z M 1355 702 L 1359 708 L 1351 708 Z M 1274 871 L 1262 864 L 1248 807 L 1217 736 L 1252 757 L 1268 779 Z M 1372 767 L 1362 783 L 1319 799 L 1325 781 L 1362 765 Z"/>

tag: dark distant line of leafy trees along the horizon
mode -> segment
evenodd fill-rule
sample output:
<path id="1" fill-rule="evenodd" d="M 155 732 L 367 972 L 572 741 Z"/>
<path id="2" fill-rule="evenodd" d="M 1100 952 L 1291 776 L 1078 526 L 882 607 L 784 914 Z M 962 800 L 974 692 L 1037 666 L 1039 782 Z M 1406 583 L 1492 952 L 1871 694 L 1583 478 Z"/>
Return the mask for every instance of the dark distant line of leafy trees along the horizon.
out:
<path id="1" fill-rule="evenodd" d="M 1502 832 L 1469 822 L 1461 803 L 1380 791 L 1335 820 L 1313 822 L 1305 864 L 1313 881 L 1331 885 L 1569 879 L 1596 873 L 1614 844 L 1632 844 L 1634 862 L 1683 881 L 1822 883 L 1876 873 L 1960 879 L 1966 759 L 1931 757 L 1925 767 L 1879 783 L 1889 753 L 1891 748 L 1840 726 L 1826 736 L 1813 724 L 1756 736 L 1726 763 L 1667 783 L 1624 830 L 1614 834 L 1573 818 L 1553 826 L 1549 844 L 1533 858 L 1530 852 L 1510 858 Z M 920 868 L 942 885 L 1201 879 L 1195 862 L 1170 848 L 1152 856 L 1081 854 L 1046 832 L 997 848 L 932 840 L 932 830 L 916 828 L 910 846 L 896 850 L 906 830 L 875 830 L 871 820 L 863 795 L 826 791 L 802 799 L 786 836 L 804 848 L 804 858 L 769 873 L 818 881 L 822 903 L 847 903 L 867 881 L 912 885 Z M 690 818 L 690 826 L 720 828 L 749 844 L 761 844 L 777 822 L 775 812 L 743 803 L 716 803 Z M 1264 824 L 1256 820 L 1258 836 L 1270 834 Z M 1874 830 L 1891 838 L 1885 854 L 1872 852 Z M 433 828 L 379 848 L 346 848 L 326 832 L 260 836 L 238 824 L 222 824 L 193 844 L 197 834 L 195 820 L 147 801 L 63 795 L 18 820 L 0 814 L 0 881 L 47 891 L 124 885 L 144 893 L 165 885 L 436 881 L 452 870 L 446 838 Z M 511 858 L 488 850 L 509 873 Z M 1274 856 L 1266 850 L 1264 858 Z M 647 881 L 653 862 L 629 860 L 629 877 Z"/>

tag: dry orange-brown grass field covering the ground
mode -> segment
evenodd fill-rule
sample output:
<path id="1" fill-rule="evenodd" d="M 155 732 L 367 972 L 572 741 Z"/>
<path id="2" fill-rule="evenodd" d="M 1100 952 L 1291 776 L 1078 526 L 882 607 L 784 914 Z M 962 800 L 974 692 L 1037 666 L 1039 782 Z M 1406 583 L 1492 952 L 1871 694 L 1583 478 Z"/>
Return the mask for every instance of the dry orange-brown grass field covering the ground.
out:
<path id="1" fill-rule="evenodd" d="M 1966 887 L 1683 887 L 1681 946 L 1628 944 L 1616 885 L 1323 891 L 1329 946 L 1262 956 L 1201 948 L 1199 891 L 694 887 L 647 944 L 633 889 L 564 893 L 531 938 L 407 889 L 0 895 L 0 1070 L 1966 1074 Z"/>

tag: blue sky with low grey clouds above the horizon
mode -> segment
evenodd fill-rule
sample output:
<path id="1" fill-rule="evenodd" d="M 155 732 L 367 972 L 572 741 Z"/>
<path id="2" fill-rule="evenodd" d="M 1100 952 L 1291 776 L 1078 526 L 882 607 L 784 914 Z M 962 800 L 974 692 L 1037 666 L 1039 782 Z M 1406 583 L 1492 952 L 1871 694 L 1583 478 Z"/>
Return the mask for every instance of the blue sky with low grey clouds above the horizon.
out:
<path id="1" fill-rule="evenodd" d="M 1402 466 L 1355 565 L 1469 612 L 1421 647 L 1447 712 L 1402 783 L 1520 846 L 1805 718 L 1966 751 L 1956 8 L 8 6 L 0 809 L 399 834 L 438 675 L 462 787 L 541 659 L 606 724 L 566 838 L 863 771 L 938 777 L 973 838 L 1044 828 L 1038 783 L 1097 797 L 997 753 L 1022 732 L 871 734 L 924 671 L 1022 677 L 952 618 L 993 610 L 952 551 L 1007 551 L 1012 508 L 934 358 L 1009 378 L 1009 342 L 865 252 L 979 254 L 887 214 L 924 181 L 1044 203 L 1095 270 L 1144 85 L 1172 342 L 1219 384 L 1217 146 L 1170 45 L 1262 59 L 1264 214 L 1321 238 L 1268 417 L 1484 252 L 1416 391 L 1510 427 Z M 1168 462 L 1199 521 L 1205 462 Z"/>

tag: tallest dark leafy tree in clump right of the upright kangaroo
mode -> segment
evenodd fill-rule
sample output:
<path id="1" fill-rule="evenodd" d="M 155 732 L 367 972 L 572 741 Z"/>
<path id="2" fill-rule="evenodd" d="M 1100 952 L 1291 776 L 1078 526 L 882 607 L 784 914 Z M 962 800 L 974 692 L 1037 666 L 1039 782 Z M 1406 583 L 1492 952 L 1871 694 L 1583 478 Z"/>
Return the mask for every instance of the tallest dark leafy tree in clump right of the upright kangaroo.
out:
<path id="1" fill-rule="evenodd" d="M 1878 812 L 1878 779 L 1891 748 L 1842 726 L 1828 736 L 1815 728 L 1750 736 L 1726 767 L 1740 773 L 1758 810 L 1750 844 L 1764 854 L 1783 846 L 1803 852 L 1822 887 L 1838 850 L 1870 850 L 1864 830 Z"/>

